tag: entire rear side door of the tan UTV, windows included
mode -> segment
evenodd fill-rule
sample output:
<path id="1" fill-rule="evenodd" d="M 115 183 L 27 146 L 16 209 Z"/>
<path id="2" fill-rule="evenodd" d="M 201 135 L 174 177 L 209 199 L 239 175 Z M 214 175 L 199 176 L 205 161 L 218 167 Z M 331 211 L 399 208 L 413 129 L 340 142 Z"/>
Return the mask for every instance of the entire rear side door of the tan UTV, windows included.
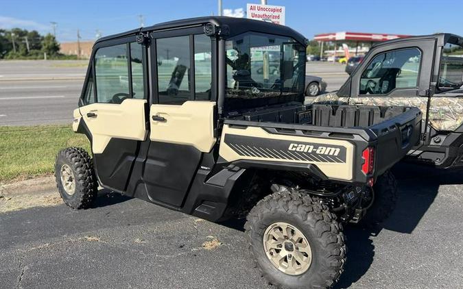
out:
<path id="1" fill-rule="evenodd" d="M 143 181 L 151 201 L 179 208 L 203 153 L 216 142 L 211 38 L 195 27 L 152 39 L 154 99 Z"/>

